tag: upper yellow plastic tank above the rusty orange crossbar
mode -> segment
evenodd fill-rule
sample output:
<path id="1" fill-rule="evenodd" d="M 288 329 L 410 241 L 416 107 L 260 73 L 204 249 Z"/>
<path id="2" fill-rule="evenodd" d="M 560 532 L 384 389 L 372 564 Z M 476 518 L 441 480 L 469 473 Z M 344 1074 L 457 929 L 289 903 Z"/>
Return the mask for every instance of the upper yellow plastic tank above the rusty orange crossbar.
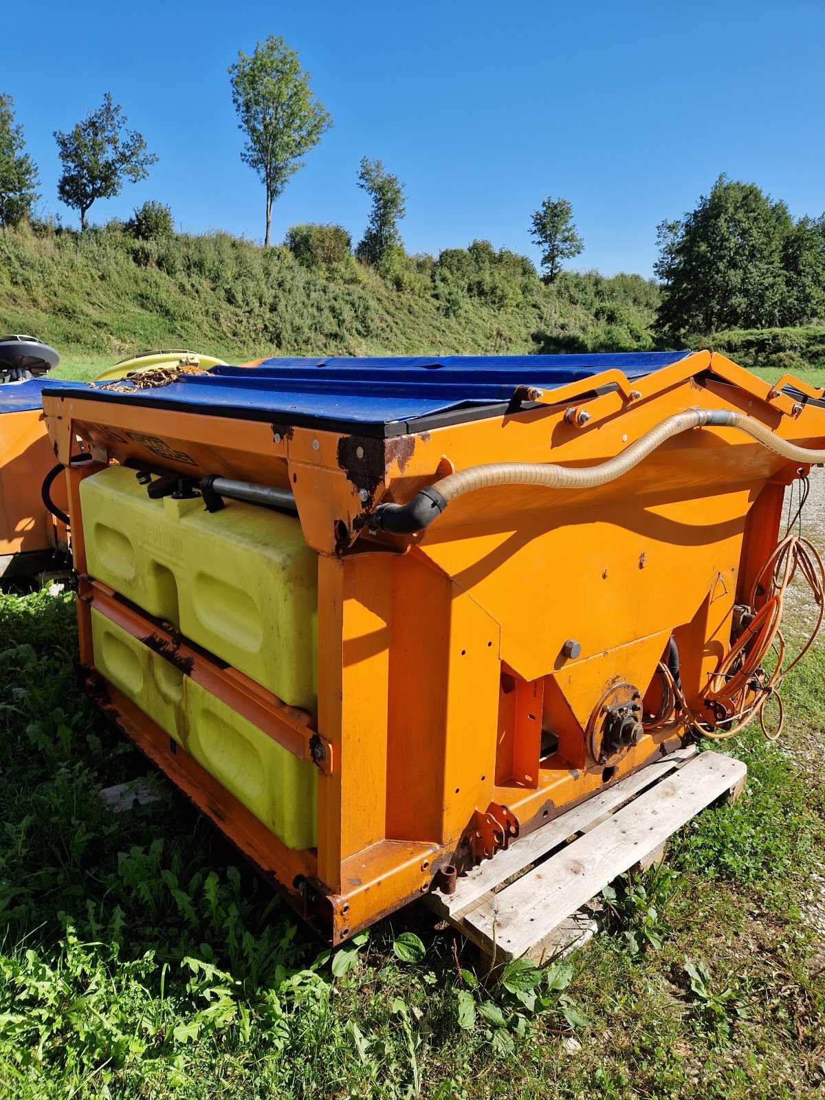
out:
<path id="1" fill-rule="evenodd" d="M 152 501 L 112 465 L 80 485 L 89 574 L 290 706 L 317 710 L 318 557 L 293 516 Z"/>

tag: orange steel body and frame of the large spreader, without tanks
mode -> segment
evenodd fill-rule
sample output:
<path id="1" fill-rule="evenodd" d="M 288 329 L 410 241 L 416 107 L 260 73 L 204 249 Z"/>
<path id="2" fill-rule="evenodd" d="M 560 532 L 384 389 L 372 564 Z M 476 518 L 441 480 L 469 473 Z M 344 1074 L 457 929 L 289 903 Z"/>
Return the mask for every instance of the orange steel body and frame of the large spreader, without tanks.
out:
<path id="1" fill-rule="evenodd" d="M 740 433 L 703 428 L 601 488 L 469 494 L 424 536 L 371 535 L 374 505 L 483 462 L 600 462 L 692 407 L 737 409 L 784 439 L 822 446 L 825 409 L 783 395 L 785 381 L 770 386 L 698 352 L 632 384 L 612 371 L 546 394 L 525 388 L 520 410 L 386 440 L 46 395 L 59 460 L 68 466 L 76 435 L 96 460 L 68 470 L 90 694 L 339 943 L 431 889 L 444 865 L 468 866 L 476 814 L 504 805 L 521 831 L 539 827 L 681 744 L 683 728 L 647 734 L 605 768 L 583 730 L 616 680 L 654 693 L 671 634 L 688 702 L 698 705 L 729 645 L 733 605 L 776 543 L 796 470 Z M 585 427 L 565 420 L 571 406 L 586 407 Z M 219 667 L 86 575 L 78 486 L 112 460 L 292 488 L 318 552 L 317 716 Z M 163 652 L 205 688 L 289 751 L 322 756 L 317 850 L 287 849 L 102 682 L 92 606 L 134 637 L 160 631 Z M 576 659 L 563 654 L 569 638 L 581 645 Z M 542 716 L 558 737 L 543 758 Z"/>

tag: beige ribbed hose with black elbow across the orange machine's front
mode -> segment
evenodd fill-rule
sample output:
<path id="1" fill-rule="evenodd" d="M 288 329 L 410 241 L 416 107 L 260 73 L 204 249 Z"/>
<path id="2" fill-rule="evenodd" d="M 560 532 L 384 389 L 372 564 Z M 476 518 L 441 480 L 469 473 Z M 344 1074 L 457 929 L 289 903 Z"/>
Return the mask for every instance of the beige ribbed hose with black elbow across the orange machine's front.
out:
<path id="1" fill-rule="evenodd" d="M 428 527 L 450 501 L 491 485 L 543 485 L 546 488 L 594 488 L 626 474 L 668 439 L 702 426 L 738 428 L 763 447 L 798 464 L 825 463 L 825 450 L 807 450 L 780 439 L 769 428 L 741 413 L 726 409 L 688 409 L 666 417 L 620 454 L 595 466 L 559 466 L 537 462 L 491 462 L 448 474 L 421 490 L 407 504 L 380 504 L 371 526 L 392 535 L 411 535 Z"/>

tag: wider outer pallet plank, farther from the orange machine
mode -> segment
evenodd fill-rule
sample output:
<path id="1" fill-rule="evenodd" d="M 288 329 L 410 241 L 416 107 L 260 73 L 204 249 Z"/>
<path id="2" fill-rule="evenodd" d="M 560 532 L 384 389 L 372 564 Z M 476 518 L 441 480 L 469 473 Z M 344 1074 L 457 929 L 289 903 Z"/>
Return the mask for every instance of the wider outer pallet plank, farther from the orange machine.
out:
<path id="1" fill-rule="evenodd" d="M 504 959 L 522 955 L 746 773 L 740 760 L 701 752 L 585 836 L 486 898 L 465 915 L 465 926 L 490 954 Z"/>

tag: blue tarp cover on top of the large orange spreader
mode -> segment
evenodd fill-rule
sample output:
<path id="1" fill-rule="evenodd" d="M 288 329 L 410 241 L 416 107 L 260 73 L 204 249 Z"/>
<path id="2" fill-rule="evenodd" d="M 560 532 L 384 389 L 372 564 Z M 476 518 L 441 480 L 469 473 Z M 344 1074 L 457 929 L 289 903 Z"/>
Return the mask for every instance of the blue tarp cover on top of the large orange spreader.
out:
<path id="1" fill-rule="evenodd" d="M 87 387 L 96 399 L 254 419 L 327 420 L 405 430 L 408 421 L 506 404 L 517 387 L 554 388 L 617 369 L 628 378 L 679 362 L 690 352 L 593 355 L 460 355 L 442 359 L 270 359 L 258 366 L 219 366 L 209 374 L 128 394 Z M 74 387 L 73 387 L 74 388 Z M 48 384 L 62 394 L 66 383 Z M 415 430 L 415 426 L 413 426 Z M 388 432 L 389 433 L 389 432 Z"/>

